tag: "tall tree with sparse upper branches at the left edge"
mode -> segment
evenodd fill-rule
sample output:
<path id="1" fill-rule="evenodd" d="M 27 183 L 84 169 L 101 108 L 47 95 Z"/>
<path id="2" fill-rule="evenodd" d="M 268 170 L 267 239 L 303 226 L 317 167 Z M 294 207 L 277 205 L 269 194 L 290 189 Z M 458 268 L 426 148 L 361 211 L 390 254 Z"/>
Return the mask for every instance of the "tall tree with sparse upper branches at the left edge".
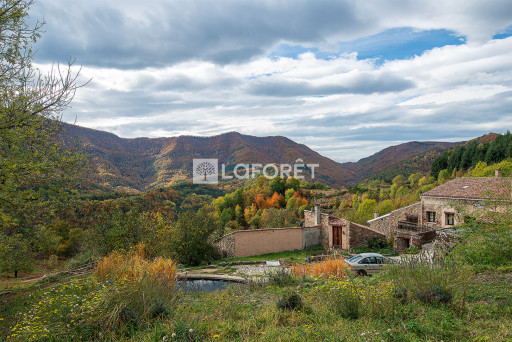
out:
<path id="1" fill-rule="evenodd" d="M 30 24 L 30 5 L 0 4 L 0 228 L 12 242 L 2 239 L 4 250 L 13 243 L 15 250 L 37 249 L 38 224 L 51 217 L 80 169 L 81 157 L 59 141 L 60 115 L 79 87 L 78 73 L 72 62 L 47 74 L 32 65 L 43 23 Z"/>

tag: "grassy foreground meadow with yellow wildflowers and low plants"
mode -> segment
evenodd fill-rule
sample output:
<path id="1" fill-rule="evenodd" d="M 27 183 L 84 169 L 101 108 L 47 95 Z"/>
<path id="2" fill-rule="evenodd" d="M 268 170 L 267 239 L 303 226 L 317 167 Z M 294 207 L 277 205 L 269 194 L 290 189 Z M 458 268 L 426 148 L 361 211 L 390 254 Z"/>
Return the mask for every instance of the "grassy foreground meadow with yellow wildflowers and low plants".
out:
<path id="1" fill-rule="evenodd" d="M 440 269 L 430 276 L 420 272 L 416 278 L 417 289 L 424 278 L 446 281 L 446 301 L 423 300 L 412 291 L 399 296 L 400 282 L 393 277 L 401 273 L 383 273 L 290 278 L 233 285 L 215 293 L 175 294 L 162 299 L 163 309 L 141 306 L 141 314 L 136 304 L 149 305 L 149 289 L 124 293 L 129 288 L 84 276 L 1 297 L 0 341 L 8 336 L 13 341 L 512 340 L 512 274 L 460 273 L 466 277 L 461 278 L 452 271 Z"/>

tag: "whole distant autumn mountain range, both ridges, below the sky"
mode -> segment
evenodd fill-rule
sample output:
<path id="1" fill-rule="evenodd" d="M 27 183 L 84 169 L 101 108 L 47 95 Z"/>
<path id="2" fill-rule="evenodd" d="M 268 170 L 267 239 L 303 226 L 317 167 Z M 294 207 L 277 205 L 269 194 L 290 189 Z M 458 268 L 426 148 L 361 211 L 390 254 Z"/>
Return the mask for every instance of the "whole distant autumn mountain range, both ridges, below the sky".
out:
<path id="1" fill-rule="evenodd" d="M 194 158 L 216 158 L 232 170 L 241 163 L 318 164 L 314 181 L 351 186 L 369 178 L 428 172 L 432 161 L 460 143 L 413 141 L 391 146 L 357 162 L 338 163 L 286 137 L 255 137 L 229 132 L 212 137 L 125 139 L 115 134 L 63 124 L 64 141 L 87 153 L 94 181 L 113 189 L 144 191 L 192 177 Z M 304 172 L 310 179 L 310 172 Z"/>

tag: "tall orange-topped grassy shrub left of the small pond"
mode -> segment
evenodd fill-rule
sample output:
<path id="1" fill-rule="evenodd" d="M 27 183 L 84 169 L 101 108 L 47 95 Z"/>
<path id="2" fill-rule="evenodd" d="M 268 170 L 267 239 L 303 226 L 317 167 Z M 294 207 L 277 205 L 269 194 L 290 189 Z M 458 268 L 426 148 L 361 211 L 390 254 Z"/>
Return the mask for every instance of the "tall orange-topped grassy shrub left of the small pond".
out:
<path id="1" fill-rule="evenodd" d="M 94 297 L 84 317 L 126 335 L 170 313 L 176 297 L 176 264 L 162 258 L 146 260 L 143 250 L 139 244 L 131 253 L 113 252 L 98 262 L 95 276 L 108 291 Z"/>

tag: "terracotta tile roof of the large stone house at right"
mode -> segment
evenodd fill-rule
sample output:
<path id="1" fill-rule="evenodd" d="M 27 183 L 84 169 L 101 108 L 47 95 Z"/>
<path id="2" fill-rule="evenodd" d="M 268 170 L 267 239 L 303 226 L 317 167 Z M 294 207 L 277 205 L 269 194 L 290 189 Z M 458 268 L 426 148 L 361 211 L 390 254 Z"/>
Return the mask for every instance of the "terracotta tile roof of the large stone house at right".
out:
<path id="1" fill-rule="evenodd" d="M 422 197 L 511 199 L 512 180 L 496 177 L 461 177 L 422 194 Z"/>

